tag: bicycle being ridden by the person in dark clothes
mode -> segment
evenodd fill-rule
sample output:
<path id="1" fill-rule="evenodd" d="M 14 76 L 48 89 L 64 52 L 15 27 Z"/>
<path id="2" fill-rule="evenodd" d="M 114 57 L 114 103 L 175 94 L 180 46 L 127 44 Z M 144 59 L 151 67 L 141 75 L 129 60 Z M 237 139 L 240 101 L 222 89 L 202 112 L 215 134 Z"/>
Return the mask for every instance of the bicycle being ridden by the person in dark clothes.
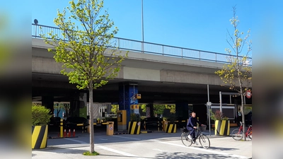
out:
<path id="1" fill-rule="evenodd" d="M 197 127 L 197 136 L 195 139 L 189 139 L 187 136 L 190 134 L 190 131 L 188 131 L 185 127 L 183 127 L 183 133 L 181 134 L 181 140 L 185 146 L 191 146 L 192 143 L 198 145 L 197 139 L 199 139 L 200 144 L 203 148 L 207 149 L 210 147 L 210 141 L 208 137 L 204 134 L 202 134 L 202 131 L 204 131 L 207 128 L 207 126 L 201 126 Z"/>

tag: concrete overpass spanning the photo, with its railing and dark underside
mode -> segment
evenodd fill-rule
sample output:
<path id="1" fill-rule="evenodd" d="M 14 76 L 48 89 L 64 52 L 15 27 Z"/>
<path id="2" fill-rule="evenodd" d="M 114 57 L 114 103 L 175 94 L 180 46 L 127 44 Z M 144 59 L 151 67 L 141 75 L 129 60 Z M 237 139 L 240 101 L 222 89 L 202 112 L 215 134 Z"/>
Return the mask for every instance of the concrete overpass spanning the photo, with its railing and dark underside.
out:
<path id="1" fill-rule="evenodd" d="M 45 32 L 59 32 L 57 28 L 41 27 Z M 33 101 L 42 100 L 42 103 L 51 105 L 51 102 L 78 100 L 81 93 L 87 91 L 77 90 L 75 85 L 69 83 L 67 76 L 60 74 L 62 64 L 54 61 L 53 54 L 47 52 L 50 46 L 43 42 L 35 30 L 40 30 L 39 25 L 33 25 L 32 35 Z M 207 85 L 209 99 L 214 103 L 219 103 L 219 91 L 233 93 L 229 88 L 220 86 L 222 81 L 214 73 L 222 68 L 229 54 L 149 42 L 144 42 L 144 50 L 141 50 L 142 42 L 122 38 L 114 40 L 118 46 L 113 47 L 129 51 L 128 58 L 122 62 L 117 78 L 94 90 L 94 102 L 119 102 L 120 87 L 129 84 L 138 88 L 138 93 L 141 94 L 139 103 L 146 104 L 204 105 L 207 102 Z M 251 59 L 249 60 L 251 66 Z M 229 95 L 224 95 L 222 100 L 226 103 L 241 102 L 241 98 Z M 251 103 L 251 99 L 246 102 Z"/>

